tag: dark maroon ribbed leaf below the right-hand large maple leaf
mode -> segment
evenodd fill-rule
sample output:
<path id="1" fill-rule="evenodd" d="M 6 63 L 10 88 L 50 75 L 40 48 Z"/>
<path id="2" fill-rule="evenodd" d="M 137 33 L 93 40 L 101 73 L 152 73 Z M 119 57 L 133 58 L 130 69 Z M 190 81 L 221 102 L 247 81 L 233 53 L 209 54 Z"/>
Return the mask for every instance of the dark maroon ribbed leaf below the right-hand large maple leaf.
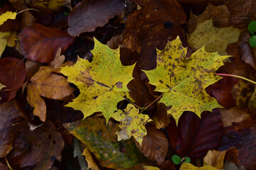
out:
<path id="1" fill-rule="evenodd" d="M 223 136 L 220 112 L 203 112 L 201 118 L 193 112 L 184 112 L 178 120 L 178 137 L 174 149 L 180 157 L 192 160 L 206 155 L 209 149 L 217 149 Z M 173 125 L 174 126 L 174 125 Z M 168 128 L 169 140 L 175 128 Z"/>

